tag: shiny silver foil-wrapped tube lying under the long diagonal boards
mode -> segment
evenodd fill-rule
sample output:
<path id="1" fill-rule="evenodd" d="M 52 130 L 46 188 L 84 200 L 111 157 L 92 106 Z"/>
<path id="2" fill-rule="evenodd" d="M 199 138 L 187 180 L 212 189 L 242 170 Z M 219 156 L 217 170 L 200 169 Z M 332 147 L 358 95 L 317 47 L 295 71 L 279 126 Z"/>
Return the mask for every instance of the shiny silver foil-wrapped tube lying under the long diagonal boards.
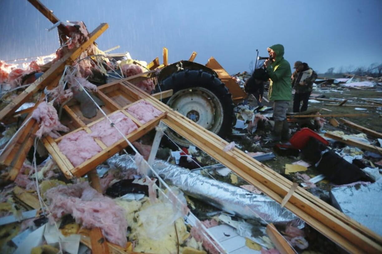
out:
<path id="1" fill-rule="evenodd" d="M 113 156 L 107 162 L 109 166 L 117 169 L 136 169 L 134 161 L 125 155 Z M 246 219 L 260 216 L 271 223 L 294 221 L 295 225 L 299 227 L 304 225 L 304 222 L 296 215 L 280 207 L 280 204 L 265 195 L 254 194 L 243 188 L 204 177 L 165 161 L 156 160 L 152 166 L 166 182 L 223 211 Z"/>

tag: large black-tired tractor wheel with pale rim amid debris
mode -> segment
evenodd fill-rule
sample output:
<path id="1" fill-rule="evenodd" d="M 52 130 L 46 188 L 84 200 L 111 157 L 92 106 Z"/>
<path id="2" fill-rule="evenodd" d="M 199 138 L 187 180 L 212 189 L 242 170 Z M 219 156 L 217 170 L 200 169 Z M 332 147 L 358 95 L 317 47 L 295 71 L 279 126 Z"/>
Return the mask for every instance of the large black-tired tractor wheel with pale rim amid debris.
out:
<path id="1" fill-rule="evenodd" d="M 202 69 L 185 69 L 162 79 L 156 92 L 173 89 L 173 96 L 162 102 L 220 137 L 231 134 L 236 122 L 232 96 L 222 81 Z M 189 146 L 185 138 L 173 131 L 167 135 L 181 146 Z"/>

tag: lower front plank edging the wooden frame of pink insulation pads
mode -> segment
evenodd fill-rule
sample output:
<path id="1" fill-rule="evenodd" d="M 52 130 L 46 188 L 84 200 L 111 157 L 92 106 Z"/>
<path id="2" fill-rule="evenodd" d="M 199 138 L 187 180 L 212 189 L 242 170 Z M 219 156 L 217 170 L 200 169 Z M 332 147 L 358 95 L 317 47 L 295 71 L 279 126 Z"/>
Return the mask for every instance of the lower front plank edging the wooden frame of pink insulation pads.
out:
<path id="1" fill-rule="evenodd" d="M 126 136 L 126 138 L 130 142 L 134 142 L 141 138 L 144 134 L 149 132 L 150 130 L 154 129 L 157 123 L 165 117 L 165 114 L 162 114 L 161 116 L 153 119 L 150 122 L 147 122 L 146 124 L 139 127 L 138 130 L 135 130 L 134 132 L 130 133 Z M 112 146 L 107 147 L 106 149 L 102 150 L 95 156 L 93 156 L 91 159 L 84 161 L 81 165 L 75 167 L 74 169 L 71 169 L 71 173 L 77 177 L 81 177 L 90 170 L 97 167 L 100 163 L 106 161 L 108 158 L 112 157 L 115 153 L 118 151 L 121 151 L 123 148 L 125 148 L 128 145 L 125 139 L 120 139 L 116 143 L 114 143 Z"/>

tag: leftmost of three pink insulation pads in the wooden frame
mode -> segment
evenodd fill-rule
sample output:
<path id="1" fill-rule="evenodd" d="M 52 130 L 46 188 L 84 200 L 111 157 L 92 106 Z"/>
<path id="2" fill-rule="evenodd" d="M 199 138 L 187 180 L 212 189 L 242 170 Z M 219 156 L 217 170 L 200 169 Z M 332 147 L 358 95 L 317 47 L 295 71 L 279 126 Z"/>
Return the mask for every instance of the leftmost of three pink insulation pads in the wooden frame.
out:
<path id="1" fill-rule="evenodd" d="M 91 135 L 84 130 L 65 135 L 58 143 L 58 148 L 74 167 L 102 151 Z"/>

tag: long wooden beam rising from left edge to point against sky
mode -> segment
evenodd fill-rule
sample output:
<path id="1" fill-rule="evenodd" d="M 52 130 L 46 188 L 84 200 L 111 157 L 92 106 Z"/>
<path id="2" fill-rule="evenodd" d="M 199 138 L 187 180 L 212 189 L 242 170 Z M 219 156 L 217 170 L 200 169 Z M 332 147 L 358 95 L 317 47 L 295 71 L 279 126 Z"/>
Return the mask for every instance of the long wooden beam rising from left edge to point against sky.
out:
<path id="1" fill-rule="evenodd" d="M 108 24 L 102 23 L 98 26 L 90 35 L 89 40 L 84 42 L 80 47 L 74 48 L 66 53 L 61 59 L 58 59 L 52 66 L 49 68 L 47 72 L 45 72 L 39 79 L 29 85 L 28 88 L 24 90 L 21 94 L 19 94 L 11 103 L 5 106 L 5 108 L 0 111 L 0 121 L 2 119 L 11 117 L 13 113 L 26 102 L 31 96 L 36 93 L 40 89 L 44 89 L 47 85 L 49 85 L 53 80 L 57 79 L 58 76 L 61 75 L 63 69 L 66 64 L 71 64 L 74 60 L 78 58 L 78 56 L 88 48 L 91 43 L 95 41 L 106 29 L 108 28 Z"/>

